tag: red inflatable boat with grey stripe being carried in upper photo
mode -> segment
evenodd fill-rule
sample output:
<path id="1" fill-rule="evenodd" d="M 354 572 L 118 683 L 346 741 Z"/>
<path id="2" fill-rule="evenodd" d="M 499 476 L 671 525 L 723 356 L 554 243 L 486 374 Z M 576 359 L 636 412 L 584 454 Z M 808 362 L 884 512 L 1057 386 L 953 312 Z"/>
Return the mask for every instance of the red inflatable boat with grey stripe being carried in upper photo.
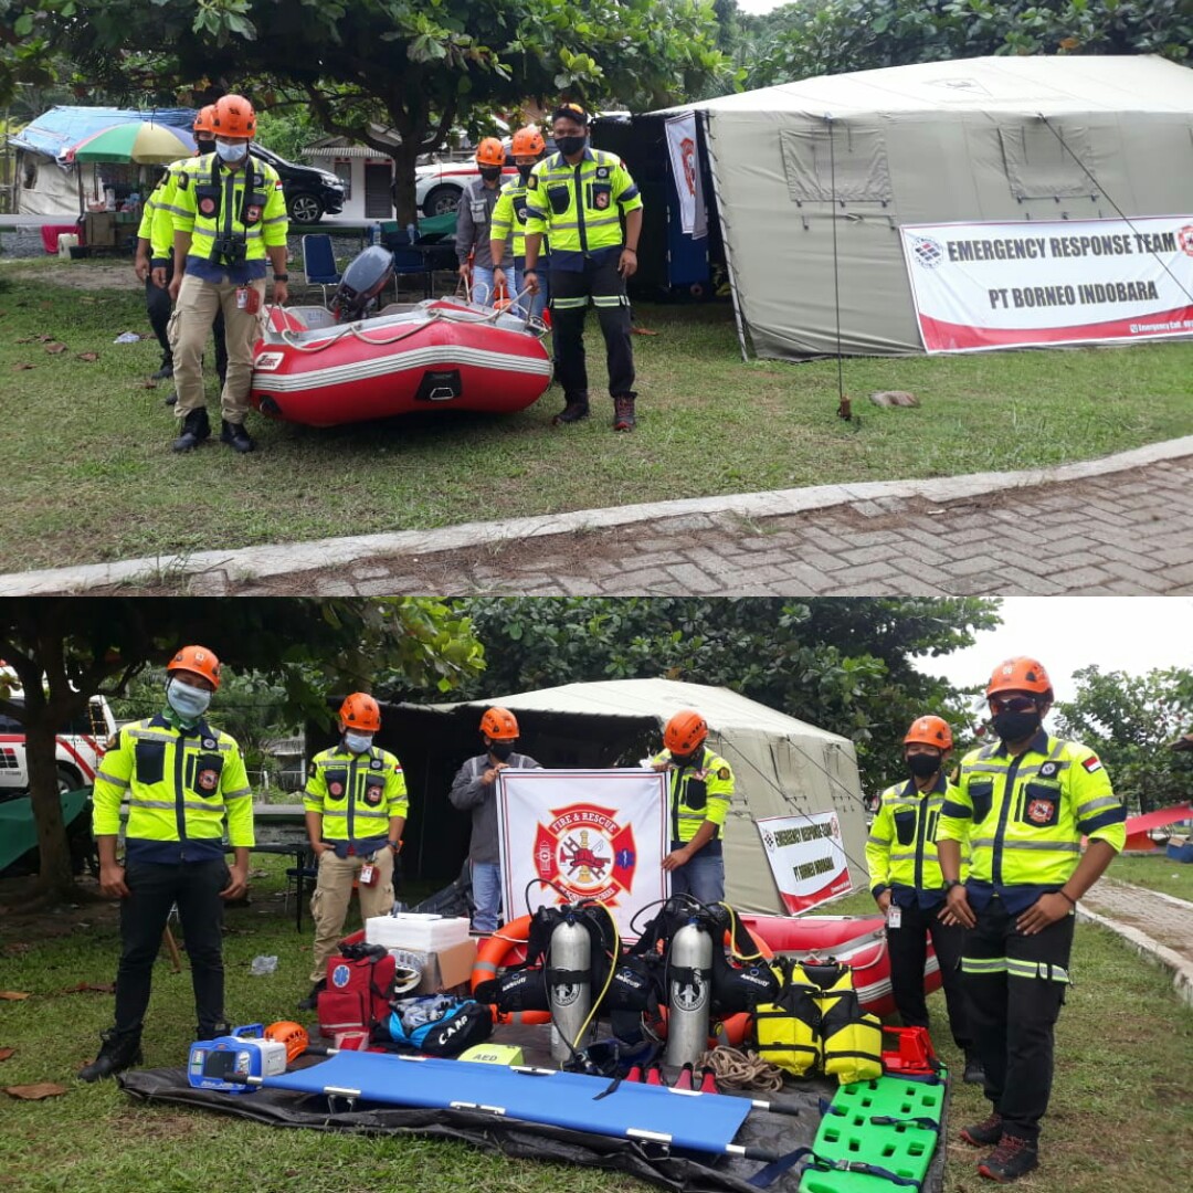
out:
<path id="1" fill-rule="evenodd" d="M 249 396 L 262 414 L 330 427 L 447 407 L 509 414 L 550 383 L 551 359 L 524 319 L 439 298 L 352 322 L 322 307 L 273 308 Z"/>

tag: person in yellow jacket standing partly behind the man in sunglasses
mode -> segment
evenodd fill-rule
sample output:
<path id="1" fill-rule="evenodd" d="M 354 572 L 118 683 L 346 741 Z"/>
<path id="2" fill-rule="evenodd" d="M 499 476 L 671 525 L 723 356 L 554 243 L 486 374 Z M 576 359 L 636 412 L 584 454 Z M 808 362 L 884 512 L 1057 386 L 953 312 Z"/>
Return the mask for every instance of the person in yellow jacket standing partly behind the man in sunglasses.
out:
<path id="1" fill-rule="evenodd" d="M 937 823 L 952 784 L 945 765 L 953 731 L 941 717 L 917 717 L 903 737 L 909 778 L 888 787 L 866 839 L 870 891 L 886 916 L 895 1006 L 904 1027 L 928 1027 L 923 966 L 928 937 L 937 954 L 953 1041 L 965 1055 L 965 1081 L 982 1081 L 970 1034 L 960 959 L 965 929 L 945 910 L 945 880 L 937 859 Z M 964 877 L 968 866 L 963 866 Z M 947 922 L 946 922 L 947 921 Z"/>

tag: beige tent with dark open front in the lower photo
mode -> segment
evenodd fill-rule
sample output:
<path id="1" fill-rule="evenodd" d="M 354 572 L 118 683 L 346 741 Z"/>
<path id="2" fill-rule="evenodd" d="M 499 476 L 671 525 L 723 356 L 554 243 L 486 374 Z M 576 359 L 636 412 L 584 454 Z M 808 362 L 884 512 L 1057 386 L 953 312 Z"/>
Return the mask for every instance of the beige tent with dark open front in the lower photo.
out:
<path id="1" fill-rule="evenodd" d="M 514 712 L 519 749 L 551 767 L 637 766 L 657 750 L 680 709 L 697 709 L 710 746 L 736 777 L 725 826 L 725 894 L 740 910 L 783 914 L 755 822 L 766 816 L 835 811 L 853 884 L 866 880 L 865 817 L 853 743 L 723 687 L 663 679 L 568 684 L 460 704 L 383 705 L 378 743 L 397 754 L 412 792 L 403 860 L 424 877 L 453 878 L 470 822 L 447 802 L 460 764 L 482 750 L 481 713 Z M 308 729 L 308 748 L 330 738 Z"/>

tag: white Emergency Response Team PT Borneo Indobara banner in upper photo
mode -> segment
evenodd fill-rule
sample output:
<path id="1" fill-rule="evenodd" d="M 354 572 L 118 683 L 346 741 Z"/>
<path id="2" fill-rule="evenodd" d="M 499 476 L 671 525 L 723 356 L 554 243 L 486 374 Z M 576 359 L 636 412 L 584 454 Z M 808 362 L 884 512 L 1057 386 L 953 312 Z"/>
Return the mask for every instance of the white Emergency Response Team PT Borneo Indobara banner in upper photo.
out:
<path id="1" fill-rule="evenodd" d="M 928 352 L 1193 336 L 1193 216 L 901 233 Z"/>

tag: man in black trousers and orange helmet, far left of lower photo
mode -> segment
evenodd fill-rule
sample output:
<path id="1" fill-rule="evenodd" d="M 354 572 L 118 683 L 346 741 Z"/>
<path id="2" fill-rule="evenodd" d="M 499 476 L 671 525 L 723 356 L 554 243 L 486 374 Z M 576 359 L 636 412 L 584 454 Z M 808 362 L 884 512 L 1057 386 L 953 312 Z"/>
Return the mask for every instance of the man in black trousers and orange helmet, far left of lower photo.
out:
<path id="1" fill-rule="evenodd" d="M 184 647 L 166 666 L 166 707 L 116 735 L 95 775 L 93 828 L 99 885 L 120 900 L 120 964 L 116 1024 L 99 1056 L 82 1069 L 98 1081 L 140 1061 L 153 963 L 177 904 L 186 935 L 198 1015 L 197 1039 L 227 1032 L 223 903 L 248 889 L 253 793 L 240 747 L 206 721 L 220 687 L 220 660 Z M 116 857 L 120 802 L 128 796 L 124 863 Z M 223 836 L 234 851 L 229 870 Z"/>

